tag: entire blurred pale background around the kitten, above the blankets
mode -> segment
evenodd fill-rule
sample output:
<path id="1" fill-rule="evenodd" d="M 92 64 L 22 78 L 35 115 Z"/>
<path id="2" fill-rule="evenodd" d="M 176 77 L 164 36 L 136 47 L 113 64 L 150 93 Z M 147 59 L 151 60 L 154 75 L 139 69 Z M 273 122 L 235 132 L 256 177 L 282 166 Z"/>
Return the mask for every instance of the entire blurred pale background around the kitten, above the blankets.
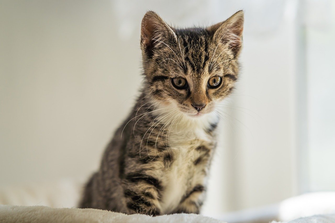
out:
<path id="1" fill-rule="evenodd" d="M 50 205 L 54 188 L 51 206 L 76 205 L 138 95 L 147 10 L 184 27 L 241 9 L 242 71 L 203 214 L 334 191 L 335 1 L 0 0 L 0 201 Z"/>

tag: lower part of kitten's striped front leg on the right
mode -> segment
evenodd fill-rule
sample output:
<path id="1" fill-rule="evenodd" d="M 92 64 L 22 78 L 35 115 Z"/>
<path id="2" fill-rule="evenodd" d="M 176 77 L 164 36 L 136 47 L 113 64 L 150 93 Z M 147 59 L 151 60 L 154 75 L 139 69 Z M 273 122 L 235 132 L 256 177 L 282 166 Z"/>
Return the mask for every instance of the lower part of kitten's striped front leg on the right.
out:
<path id="1" fill-rule="evenodd" d="M 203 185 L 196 185 L 181 200 L 173 213 L 194 213 L 199 214 L 205 198 L 205 188 Z"/>

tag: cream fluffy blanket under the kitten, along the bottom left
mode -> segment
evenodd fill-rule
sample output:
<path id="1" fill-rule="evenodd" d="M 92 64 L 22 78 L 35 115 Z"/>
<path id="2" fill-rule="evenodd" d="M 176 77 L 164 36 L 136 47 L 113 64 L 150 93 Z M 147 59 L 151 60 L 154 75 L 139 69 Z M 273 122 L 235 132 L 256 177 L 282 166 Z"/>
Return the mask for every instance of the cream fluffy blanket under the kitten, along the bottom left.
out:
<path id="1" fill-rule="evenodd" d="M 223 223 L 197 214 L 173 214 L 151 217 L 142 214 L 126 215 L 111 211 L 46 206 L 0 205 L 0 222 L 204 222 Z"/>

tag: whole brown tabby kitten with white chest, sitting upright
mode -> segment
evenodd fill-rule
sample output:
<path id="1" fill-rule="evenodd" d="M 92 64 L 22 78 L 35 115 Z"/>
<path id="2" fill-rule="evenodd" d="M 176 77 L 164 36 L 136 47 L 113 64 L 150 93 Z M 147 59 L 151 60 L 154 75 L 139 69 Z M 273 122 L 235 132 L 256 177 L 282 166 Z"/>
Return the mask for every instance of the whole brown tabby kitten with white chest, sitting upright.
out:
<path id="1" fill-rule="evenodd" d="M 141 24 L 144 83 L 117 129 L 81 208 L 128 214 L 199 213 L 216 146 L 216 104 L 239 73 L 244 14 L 177 29 L 148 11 Z"/>

